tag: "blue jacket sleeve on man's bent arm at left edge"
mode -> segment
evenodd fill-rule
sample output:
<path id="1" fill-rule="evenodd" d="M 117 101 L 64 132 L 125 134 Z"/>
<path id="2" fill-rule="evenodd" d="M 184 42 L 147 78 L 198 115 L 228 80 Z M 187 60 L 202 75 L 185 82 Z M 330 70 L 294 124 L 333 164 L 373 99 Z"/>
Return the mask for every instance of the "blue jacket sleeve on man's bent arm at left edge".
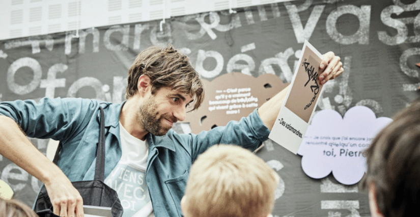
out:
<path id="1" fill-rule="evenodd" d="M 16 121 L 27 137 L 65 141 L 86 127 L 97 106 L 89 99 L 16 100 L 0 103 L 0 115 Z"/>

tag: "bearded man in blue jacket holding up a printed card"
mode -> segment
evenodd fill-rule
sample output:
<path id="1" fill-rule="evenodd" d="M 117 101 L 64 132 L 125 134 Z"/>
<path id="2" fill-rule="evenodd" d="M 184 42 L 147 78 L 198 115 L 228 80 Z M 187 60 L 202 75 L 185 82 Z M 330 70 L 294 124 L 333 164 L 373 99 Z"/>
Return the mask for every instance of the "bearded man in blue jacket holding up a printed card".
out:
<path id="1" fill-rule="evenodd" d="M 340 58 L 323 56 L 321 85 L 343 72 Z M 268 139 L 288 88 L 240 121 L 199 134 L 172 130 L 204 98 L 200 76 L 173 46 L 150 47 L 128 72 L 126 101 L 43 98 L 0 103 L 0 154 L 45 186 L 60 216 L 83 216 L 82 199 L 72 181 L 92 180 L 99 135 L 98 108 L 105 117 L 105 183 L 129 201 L 126 216 L 182 216 L 180 201 L 192 162 L 216 144 L 257 149 Z M 61 142 L 55 166 L 26 138 Z"/>

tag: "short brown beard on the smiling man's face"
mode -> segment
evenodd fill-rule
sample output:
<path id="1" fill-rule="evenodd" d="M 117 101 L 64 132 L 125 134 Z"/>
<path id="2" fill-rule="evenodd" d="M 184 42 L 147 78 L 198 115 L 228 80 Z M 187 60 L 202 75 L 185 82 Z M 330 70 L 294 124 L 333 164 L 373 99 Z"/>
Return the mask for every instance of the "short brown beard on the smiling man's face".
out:
<path id="1" fill-rule="evenodd" d="M 171 129 L 171 127 L 162 127 L 162 116 L 157 118 L 157 105 L 153 99 L 153 96 L 150 96 L 146 102 L 140 106 L 138 111 L 137 118 L 143 124 L 143 127 L 146 131 L 152 133 L 153 135 L 164 135 Z M 174 123 L 174 118 L 167 118 Z"/>

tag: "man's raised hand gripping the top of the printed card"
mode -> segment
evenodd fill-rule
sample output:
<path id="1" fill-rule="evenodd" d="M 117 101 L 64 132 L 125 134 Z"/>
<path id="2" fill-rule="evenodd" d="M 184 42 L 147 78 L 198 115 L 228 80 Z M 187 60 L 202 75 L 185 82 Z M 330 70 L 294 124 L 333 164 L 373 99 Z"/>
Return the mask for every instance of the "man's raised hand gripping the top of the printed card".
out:
<path id="1" fill-rule="evenodd" d="M 321 85 L 324 85 L 328 80 L 334 79 L 343 73 L 343 63 L 340 60 L 340 57 L 335 56 L 331 51 L 322 56 L 319 68 L 324 69 L 324 71 L 318 77 Z"/>

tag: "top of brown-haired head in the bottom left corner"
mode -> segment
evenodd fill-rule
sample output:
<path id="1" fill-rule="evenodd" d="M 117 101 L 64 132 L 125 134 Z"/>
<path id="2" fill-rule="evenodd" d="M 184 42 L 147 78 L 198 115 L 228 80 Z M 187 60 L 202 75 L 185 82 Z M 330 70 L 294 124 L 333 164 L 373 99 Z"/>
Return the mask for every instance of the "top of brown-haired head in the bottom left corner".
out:
<path id="1" fill-rule="evenodd" d="M 2 217 L 38 217 L 26 204 L 18 200 L 0 199 L 0 216 Z"/>

